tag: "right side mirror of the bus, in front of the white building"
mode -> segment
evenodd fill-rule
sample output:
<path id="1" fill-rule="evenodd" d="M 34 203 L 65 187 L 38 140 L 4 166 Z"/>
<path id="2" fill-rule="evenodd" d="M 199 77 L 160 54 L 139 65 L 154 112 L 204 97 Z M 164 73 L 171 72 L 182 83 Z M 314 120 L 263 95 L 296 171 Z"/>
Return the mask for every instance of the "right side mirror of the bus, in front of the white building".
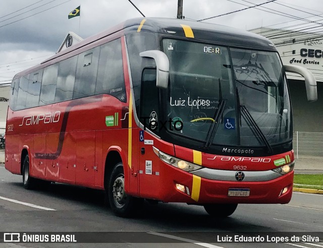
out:
<path id="1" fill-rule="evenodd" d="M 313 74 L 304 67 L 294 65 L 284 65 L 285 72 L 292 72 L 300 74 L 305 79 L 306 94 L 308 102 L 315 102 L 317 100 L 316 80 Z"/>

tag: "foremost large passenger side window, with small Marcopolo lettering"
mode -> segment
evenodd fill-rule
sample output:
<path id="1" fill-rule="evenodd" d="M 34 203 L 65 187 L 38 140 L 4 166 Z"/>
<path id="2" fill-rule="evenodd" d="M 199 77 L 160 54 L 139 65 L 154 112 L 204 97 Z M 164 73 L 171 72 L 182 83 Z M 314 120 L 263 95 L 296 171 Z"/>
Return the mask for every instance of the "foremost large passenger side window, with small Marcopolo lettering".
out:
<path id="1" fill-rule="evenodd" d="M 101 46 L 95 94 L 101 93 L 127 101 L 120 38 Z"/>

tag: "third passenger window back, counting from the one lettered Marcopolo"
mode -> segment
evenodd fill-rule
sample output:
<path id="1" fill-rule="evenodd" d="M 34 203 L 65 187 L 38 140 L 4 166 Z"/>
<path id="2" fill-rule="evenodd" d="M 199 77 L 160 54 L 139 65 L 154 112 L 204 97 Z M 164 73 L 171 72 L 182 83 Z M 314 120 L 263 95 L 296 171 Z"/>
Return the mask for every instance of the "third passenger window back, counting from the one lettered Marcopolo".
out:
<path id="1" fill-rule="evenodd" d="M 55 103 L 73 98 L 77 56 L 60 62 Z"/>

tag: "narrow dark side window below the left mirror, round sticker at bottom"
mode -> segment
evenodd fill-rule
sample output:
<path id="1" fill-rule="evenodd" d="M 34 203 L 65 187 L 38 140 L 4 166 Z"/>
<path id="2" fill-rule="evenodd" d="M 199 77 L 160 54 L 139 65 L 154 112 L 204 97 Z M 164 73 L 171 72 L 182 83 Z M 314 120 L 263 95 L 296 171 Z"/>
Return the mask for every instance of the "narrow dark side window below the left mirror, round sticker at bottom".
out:
<path id="1" fill-rule="evenodd" d="M 144 69 L 141 82 L 139 120 L 153 132 L 159 130 L 158 98 L 156 69 Z"/>

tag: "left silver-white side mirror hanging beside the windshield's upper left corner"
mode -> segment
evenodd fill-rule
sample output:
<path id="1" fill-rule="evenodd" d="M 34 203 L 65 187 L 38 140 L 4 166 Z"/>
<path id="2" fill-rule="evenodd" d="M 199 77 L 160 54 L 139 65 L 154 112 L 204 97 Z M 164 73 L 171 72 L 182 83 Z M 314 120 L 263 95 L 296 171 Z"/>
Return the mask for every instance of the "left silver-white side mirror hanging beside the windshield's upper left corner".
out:
<path id="1" fill-rule="evenodd" d="M 139 54 L 140 57 L 152 58 L 155 60 L 157 72 L 156 72 L 156 85 L 159 88 L 167 88 L 168 78 L 170 73 L 170 62 L 167 55 L 158 50 L 149 50 Z"/>

